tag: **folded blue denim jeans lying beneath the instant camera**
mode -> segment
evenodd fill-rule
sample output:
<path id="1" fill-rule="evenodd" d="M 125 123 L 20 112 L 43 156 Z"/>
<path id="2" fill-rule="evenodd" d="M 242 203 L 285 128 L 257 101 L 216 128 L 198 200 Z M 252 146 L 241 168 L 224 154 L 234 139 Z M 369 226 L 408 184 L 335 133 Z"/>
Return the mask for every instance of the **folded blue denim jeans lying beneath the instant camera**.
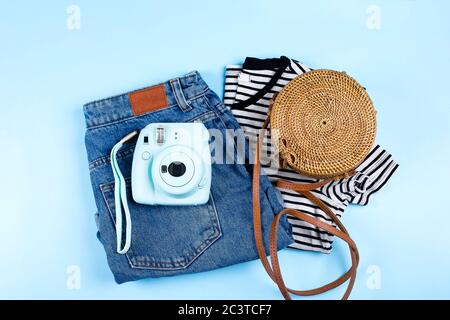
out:
<path id="1" fill-rule="evenodd" d="M 226 129 L 239 129 L 233 115 L 198 72 L 167 81 L 159 88 L 165 93 L 166 106 L 137 115 L 130 101 L 133 93 L 84 106 L 86 150 L 98 209 L 97 235 L 117 283 L 206 271 L 258 259 L 249 165 L 213 163 L 211 194 L 204 205 L 141 205 L 133 201 L 130 187 L 135 143 L 126 144 L 117 154 L 127 181 L 133 227 L 128 252 L 116 252 L 114 177 L 109 155 L 114 144 L 153 122 L 201 121 L 208 129 L 220 130 L 224 135 Z M 264 241 L 269 248 L 270 224 L 282 209 L 281 196 L 266 176 L 261 176 L 260 194 Z M 279 229 L 278 249 L 282 249 L 293 240 L 285 220 Z"/>

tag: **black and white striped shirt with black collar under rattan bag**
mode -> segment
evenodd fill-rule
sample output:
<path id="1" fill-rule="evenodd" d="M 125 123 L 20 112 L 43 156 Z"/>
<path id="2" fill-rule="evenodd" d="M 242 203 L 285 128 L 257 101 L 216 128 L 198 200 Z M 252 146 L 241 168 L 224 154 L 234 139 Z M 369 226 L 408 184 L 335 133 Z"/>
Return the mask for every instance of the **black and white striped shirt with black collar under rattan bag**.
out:
<path id="1" fill-rule="evenodd" d="M 246 135 L 250 139 L 252 137 L 256 139 L 256 133 L 267 117 L 273 95 L 281 91 L 290 80 L 309 70 L 310 68 L 304 64 L 286 57 L 280 59 L 247 58 L 243 65 L 228 65 L 224 103 L 230 108 Z M 282 73 L 280 73 L 281 71 Z M 276 79 L 274 79 L 275 77 Z M 269 82 L 272 82 L 273 85 Z M 270 88 L 267 86 L 268 83 Z M 254 143 L 254 141 L 252 142 Z M 265 148 L 269 149 L 268 154 L 270 154 L 272 148 L 270 135 L 263 140 L 262 150 Z M 263 157 L 264 154 L 261 157 L 262 163 L 264 163 Z M 271 170 L 269 165 L 262 165 L 262 167 L 272 182 L 279 179 L 297 183 L 318 181 L 300 175 L 291 169 Z M 358 166 L 356 175 L 349 179 L 329 183 L 314 190 L 313 193 L 327 204 L 338 217 L 341 217 L 344 209 L 350 203 L 366 205 L 371 196 L 386 184 L 397 167 L 392 156 L 376 145 Z M 303 195 L 286 189 L 280 189 L 280 191 L 285 207 L 300 210 L 331 223 L 331 219 Z M 331 251 L 333 235 L 295 217 L 289 216 L 288 221 L 292 225 L 295 240 L 290 247 L 323 253 Z"/>

